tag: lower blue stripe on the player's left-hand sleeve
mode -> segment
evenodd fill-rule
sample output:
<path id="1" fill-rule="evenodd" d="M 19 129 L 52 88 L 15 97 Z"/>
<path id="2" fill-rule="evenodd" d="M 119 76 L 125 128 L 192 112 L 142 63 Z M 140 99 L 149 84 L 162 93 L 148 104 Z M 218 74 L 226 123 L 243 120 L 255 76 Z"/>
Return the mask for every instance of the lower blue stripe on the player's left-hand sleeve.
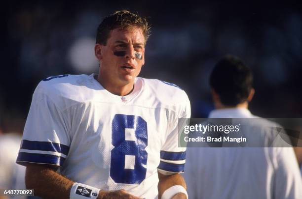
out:
<path id="1" fill-rule="evenodd" d="M 64 161 L 65 158 L 56 155 L 19 152 L 16 163 L 23 165 L 22 162 L 30 162 L 30 163 L 58 165 L 62 167 Z"/>

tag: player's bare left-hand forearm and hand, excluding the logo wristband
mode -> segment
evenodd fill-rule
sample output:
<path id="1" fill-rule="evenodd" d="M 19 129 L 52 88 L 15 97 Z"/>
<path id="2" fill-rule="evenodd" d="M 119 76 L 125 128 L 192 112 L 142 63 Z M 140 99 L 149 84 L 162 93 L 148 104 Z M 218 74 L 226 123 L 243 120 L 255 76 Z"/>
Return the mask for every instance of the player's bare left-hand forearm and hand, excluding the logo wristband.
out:
<path id="1" fill-rule="evenodd" d="M 41 164 L 28 164 L 25 183 L 27 189 L 35 189 L 35 196 L 43 199 L 85 199 L 71 194 L 75 182 L 57 173 L 58 167 Z M 96 199 L 139 199 L 125 190 L 100 190 Z"/>

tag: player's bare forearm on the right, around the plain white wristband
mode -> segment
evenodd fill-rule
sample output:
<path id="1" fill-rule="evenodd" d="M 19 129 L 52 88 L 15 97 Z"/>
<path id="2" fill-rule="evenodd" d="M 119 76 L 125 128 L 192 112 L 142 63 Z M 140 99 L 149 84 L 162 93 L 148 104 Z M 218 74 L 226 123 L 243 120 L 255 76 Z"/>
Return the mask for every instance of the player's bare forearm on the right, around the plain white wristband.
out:
<path id="1" fill-rule="evenodd" d="M 172 175 L 164 175 L 158 173 L 158 178 L 159 178 L 159 182 L 157 187 L 158 187 L 159 199 L 161 199 L 163 193 L 166 190 L 168 190 L 173 186 L 175 186 L 175 188 L 179 188 L 177 187 L 177 185 L 179 185 L 184 187 L 184 189 L 187 189 L 186 182 L 183 176 L 181 176 L 179 173 L 172 174 Z M 184 193 L 177 193 L 176 191 L 175 195 L 173 195 L 171 199 L 187 199 L 187 196 Z"/>

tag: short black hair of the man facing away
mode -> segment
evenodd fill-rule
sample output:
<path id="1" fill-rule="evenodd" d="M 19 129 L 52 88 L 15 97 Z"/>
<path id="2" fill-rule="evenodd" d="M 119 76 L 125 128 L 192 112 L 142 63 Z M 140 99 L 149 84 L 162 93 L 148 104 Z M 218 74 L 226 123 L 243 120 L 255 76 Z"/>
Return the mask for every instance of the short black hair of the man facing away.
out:
<path id="1" fill-rule="evenodd" d="M 210 85 L 223 105 L 236 106 L 249 96 L 253 87 L 252 72 L 238 57 L 226 56 L 215 65 Z"/>

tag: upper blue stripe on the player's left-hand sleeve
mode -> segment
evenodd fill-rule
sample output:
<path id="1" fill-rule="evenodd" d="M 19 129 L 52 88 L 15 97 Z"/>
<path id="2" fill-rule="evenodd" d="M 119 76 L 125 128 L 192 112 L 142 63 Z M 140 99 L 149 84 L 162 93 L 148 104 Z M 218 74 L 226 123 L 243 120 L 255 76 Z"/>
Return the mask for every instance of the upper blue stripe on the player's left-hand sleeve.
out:
<path id="1" fill-rule="evenodd" d="M 22 149 L 29 149 L 29 150 L 40 150 L 40 151 L 54 151 L 63 153 L 65 155 L 68 154 L 69 146 L 56 143 L 56 142 L 38 142 L 38 141 L 29 141 L 23 140 Z"/>

